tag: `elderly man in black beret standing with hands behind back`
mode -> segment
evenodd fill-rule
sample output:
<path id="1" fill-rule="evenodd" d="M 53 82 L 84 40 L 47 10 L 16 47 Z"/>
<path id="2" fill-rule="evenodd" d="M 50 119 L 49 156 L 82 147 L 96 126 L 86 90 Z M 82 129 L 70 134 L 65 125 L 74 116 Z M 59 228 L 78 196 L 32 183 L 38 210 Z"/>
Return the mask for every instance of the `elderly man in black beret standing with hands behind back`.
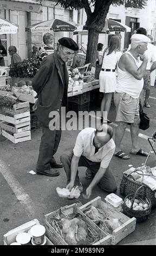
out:
<path id="1" fill-rule="evenodd" d="M 36 167 L 37 174 L 57 176 L 60 173 L 55 168 L 62 168 L 62 164 L 57 163 L 54 159 L 61 139 L 61 129 L 60 126 L 59 129 L 50 128 L 50 113 L 58 113 L 60 119 L 57 121 L 60 123 L 61 107 L 67 107 L 68 71 L 66 62 L 70 55 L 78 49 L 79 47 L 73 39 L 66 37 L 59 39 L 57 50 L 43 59 L 40 69 L 32 80 L 32 87 L 38 94 L 36 114 L 43 132 Z"/>

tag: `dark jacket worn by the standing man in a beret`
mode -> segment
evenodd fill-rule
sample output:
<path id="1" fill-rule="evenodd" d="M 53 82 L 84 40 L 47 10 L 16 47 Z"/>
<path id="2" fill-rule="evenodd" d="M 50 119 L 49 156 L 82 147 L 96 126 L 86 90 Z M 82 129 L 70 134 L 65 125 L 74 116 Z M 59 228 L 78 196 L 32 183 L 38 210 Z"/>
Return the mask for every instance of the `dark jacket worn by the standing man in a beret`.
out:
<path id="1" fill-rule="evenodd" d="M 32 80 L 32 87 L 39 94 L 36 109 L 38 121 L 43 126 L 48 126 L 51 120 L 49 113 L 61 112 L 61 106 L 67 108 L 68 104 L 68 71 L 64 63 L 63 83 L 56 52 L 43 59 Z"/>

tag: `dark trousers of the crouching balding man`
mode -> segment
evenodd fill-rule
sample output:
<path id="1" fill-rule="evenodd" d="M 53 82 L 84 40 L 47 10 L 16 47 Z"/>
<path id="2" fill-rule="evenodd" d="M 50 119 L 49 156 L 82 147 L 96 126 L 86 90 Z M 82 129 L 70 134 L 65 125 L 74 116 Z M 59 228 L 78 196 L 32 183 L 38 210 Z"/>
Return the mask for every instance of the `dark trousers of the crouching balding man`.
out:
<path id="1" fill-rule="evenodd" d="M 72 157 L 73 157 L 73 150 L 69 151 L 66 154 L 63 154 L 60 157 L 60 160 L 63 164 L 64 170 L 67 175 L 67 184 L 70 182 L 70 167 L 71 167 Z M 88 160 L 85 156 L 81 156 L 79 160 L 79 166 L 87 167 L 92 172 L 92 175 L 95 176 L 95 174 L 98 172 L 100 168 L 100 162 L 92 162 Z M 77 170 L 75 185 L 79 185 L 79 184 L 80 184 L 79 172 Z M 107 192 L 115 192 L 117 190 L 116 181 L 109 166 L 107 167 L 107 170 L 103 175 L 103 177 L 101 178 L 101 180 L 99 181 L 98 185 L 102 190 L 105 190 Z"/>

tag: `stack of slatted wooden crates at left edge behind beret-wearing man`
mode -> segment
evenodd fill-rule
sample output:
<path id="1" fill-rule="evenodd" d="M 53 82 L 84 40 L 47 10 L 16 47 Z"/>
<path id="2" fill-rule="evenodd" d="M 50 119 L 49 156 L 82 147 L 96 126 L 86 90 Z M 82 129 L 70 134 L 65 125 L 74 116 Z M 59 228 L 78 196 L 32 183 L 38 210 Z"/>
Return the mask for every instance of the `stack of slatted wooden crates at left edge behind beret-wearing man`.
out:
<path id="1" fill-rule="evenodd" d="M 15 144 L 18 142 L 30 141 L 29 102 L 17 103 L 12 109 L 1 109 L 0 129 L 2 135 Z"/>

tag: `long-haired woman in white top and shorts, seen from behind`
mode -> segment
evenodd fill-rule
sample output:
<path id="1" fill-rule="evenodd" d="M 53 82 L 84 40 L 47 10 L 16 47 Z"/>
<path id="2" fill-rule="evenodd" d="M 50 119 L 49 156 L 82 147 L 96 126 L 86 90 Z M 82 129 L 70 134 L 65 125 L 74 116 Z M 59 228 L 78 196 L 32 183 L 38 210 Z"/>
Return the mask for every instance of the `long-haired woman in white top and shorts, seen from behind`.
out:
<path id="1" fill-rule="evenodd" d="M 103 111 L 109 113 L 113 93 L 116 89 L 116 65 L 122 55 L 120 39 L 118 36 L 112 36 L 109 41 L 108 48 L 105 48 L 104 57 L 101 56 L 99 65 L 102 68 L 99 75 L 100 92 L 103 93 L 101 101 L 101 120 L 103 120 Z M 107 123 L 111 124 L 112 121 L 107 119 Z"/>

